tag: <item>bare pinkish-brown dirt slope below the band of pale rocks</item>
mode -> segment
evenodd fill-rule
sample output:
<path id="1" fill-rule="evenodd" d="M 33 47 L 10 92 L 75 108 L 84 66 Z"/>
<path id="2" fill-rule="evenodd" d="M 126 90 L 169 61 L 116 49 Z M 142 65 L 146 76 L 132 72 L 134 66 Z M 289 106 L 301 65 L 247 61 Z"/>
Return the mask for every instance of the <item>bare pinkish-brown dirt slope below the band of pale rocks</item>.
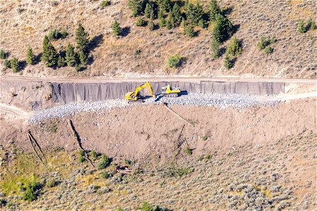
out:
<path id="1" fill-rule="evenodd" d="M 111 157 L 151 157 L 159 162 L 177 158 L 187 146 L 194 155 L 201 155 L 217 148 L 245 143 L 270 143 L 306 130 L 316 132 L 314 98 L 280 103 L 276 107 L 245 110 L 220 110 L 203 106 L 171 108 L 194 127 L 182 122 L 163 106 L 154 105 L 115 108 L 101 114 L 82 113 L 71 119 L 82 145 L 87 149 L 95 149 Z M 67 118 L 46 120 L 18 129 L 1 128 L 1 134 L 3 138 L 10 136 L 20 146 L 28 148 L 25 145 L 26 129 L 32 131 L 42 147 L 60 146 L 67 150 L 76 147 Z M 1 142 L 7 141 L 1 139 Z"/>

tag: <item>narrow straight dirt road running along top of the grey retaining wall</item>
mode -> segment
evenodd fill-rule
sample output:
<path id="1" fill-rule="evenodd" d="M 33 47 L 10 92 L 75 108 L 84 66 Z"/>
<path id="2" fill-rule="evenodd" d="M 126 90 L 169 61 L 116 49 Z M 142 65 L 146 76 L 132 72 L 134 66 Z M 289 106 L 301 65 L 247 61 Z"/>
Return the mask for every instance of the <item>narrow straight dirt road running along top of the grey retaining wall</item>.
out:
<path id="1" fill-rule="evenodd" d="M 2 80 L 19 80 L 29 82 L 81 82 L 81 83 L 101 83 L 101 82 L 285 82 L 294 84 L 317 84 L 316 79 L 281 79 L 281 78 L 242 78 L 242 77 L 135 77 L 135 78 L 58 78 L 58 77 L 20 77 L 20 76 L 0 76 L 0 83 Z"/>

